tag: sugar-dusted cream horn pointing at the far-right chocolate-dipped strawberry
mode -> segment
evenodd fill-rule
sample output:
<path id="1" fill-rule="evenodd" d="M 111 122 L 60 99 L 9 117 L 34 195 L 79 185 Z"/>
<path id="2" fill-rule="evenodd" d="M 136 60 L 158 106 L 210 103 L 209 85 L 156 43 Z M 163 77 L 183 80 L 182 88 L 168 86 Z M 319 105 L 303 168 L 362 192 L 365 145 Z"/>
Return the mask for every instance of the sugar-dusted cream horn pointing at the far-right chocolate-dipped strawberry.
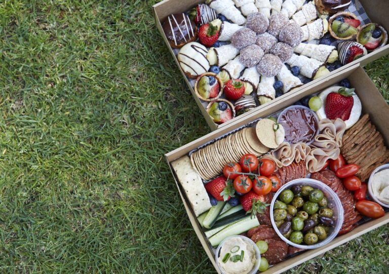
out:
<path id="1" fill-rule="evenodd" d="M 293 51 L 324 63 L 338 60 L 338 51 L 333 45 L 300 43 Z"/>

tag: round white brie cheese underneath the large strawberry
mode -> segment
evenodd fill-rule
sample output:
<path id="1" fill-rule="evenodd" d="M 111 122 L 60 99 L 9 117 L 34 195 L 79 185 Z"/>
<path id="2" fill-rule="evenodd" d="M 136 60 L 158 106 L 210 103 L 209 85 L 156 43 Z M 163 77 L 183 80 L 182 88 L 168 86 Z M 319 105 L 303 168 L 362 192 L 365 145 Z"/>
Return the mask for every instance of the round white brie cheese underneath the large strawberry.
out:
<path id="1" fill-rule="evenodd" d="M 326 112 L 325 112 L 325 106 L 326 106 L 326 100 L 327 100 L 327 95 L 332 93 L 332 92 L 337 92 L 339 88 L 342 86 L 330 86 L 329 88 L 324 89 L 320 94 L 319 98 L 322 100 L 323 105 L 322 107 L 316 112 L 316 115 L 318 116 L 319 120 L 323 120 L 327 118 Z M 354 98 L 354 106 L 351 110 L 350 118 L 344 123 L 346 124 L 346 129 L 352 127 L 356 122 L 358 122 L 359 117 L 361 116 L 362 113 L 362 103 L 361 100 L 359 100 L 357 95 L 353 95 Z"/>

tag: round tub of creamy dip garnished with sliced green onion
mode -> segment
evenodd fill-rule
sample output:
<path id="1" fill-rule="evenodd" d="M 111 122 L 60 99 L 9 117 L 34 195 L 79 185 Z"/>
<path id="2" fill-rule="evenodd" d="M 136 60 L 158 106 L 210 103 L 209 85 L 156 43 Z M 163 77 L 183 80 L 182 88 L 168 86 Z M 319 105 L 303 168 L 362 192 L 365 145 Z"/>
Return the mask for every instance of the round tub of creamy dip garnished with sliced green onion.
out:
<path id="1" fill-rule="evenodd" d="M 237 250 L 237 246 L 239 247 L 239 250 Z M 235 252 L 231 252 L 235 251 Z M 243 256 L 243 260 L 240 261 L 232 261 L 231 258 L 234 255 L 240 255 L 242 250 L 245 252 Z M 226 262 L 223 262 L 224 256 L 230 253 L 230 257 Z M 217 259 L 220 270 L 222 270 L 226 274 L 247 274 L 249 273 L 256 262 L 255 258 L 255 250 L 251 243 L 248 241 L 243 240 L 242 238 L 232 238 L 228 240 L 227 242 L 224 242 L 220 249 L 220 256 Z"/>

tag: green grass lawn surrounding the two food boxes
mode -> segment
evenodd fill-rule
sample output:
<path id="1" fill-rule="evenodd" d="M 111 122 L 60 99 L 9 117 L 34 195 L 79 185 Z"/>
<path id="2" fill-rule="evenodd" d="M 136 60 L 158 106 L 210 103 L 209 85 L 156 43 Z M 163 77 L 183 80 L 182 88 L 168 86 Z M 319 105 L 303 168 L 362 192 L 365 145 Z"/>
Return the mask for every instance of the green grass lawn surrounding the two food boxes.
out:
<path id="1" fill-rule="evenodd" d="M 1 273 L 215 272 L 163 157 L 209 128 L 157 2 L 0 3 Z M 389 58 L 366 69 L 389 99 Z M 383 226 L 290 273 L 387 272 L 388 242 Z"/>

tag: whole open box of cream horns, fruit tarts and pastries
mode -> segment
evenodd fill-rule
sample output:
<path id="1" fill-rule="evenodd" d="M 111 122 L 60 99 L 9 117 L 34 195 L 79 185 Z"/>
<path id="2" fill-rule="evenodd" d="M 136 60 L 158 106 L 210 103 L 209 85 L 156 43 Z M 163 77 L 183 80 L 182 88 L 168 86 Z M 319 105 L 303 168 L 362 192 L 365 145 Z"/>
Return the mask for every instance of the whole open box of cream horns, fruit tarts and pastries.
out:
<path id="1" fill-rule="evenodd" d="M 153 11 L 212 130 L 389 53 L 387 0 L 165 0 Z"/>

